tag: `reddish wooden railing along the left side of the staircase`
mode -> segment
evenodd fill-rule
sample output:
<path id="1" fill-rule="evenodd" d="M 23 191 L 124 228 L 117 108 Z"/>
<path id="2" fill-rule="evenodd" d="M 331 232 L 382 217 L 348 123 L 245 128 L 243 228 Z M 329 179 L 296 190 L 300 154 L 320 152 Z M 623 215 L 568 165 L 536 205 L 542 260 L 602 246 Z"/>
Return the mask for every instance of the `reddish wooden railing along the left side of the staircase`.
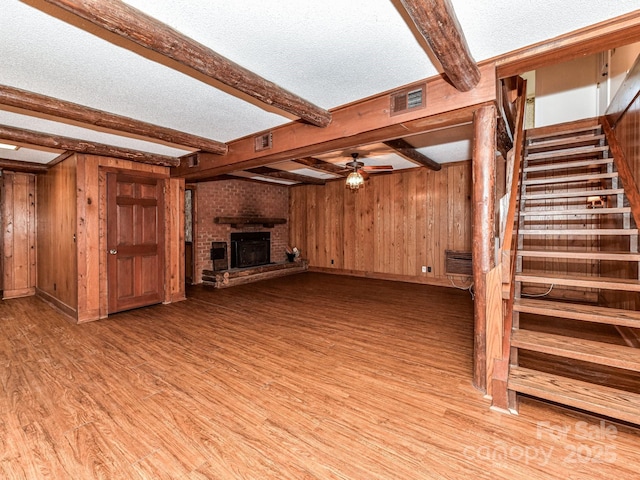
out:
<path id="1" fill-rule="evenodd" d="M 509 207 L 506 215 L 504 234 L 500 242 L 500 262 L 502 266 L 503 308 L 502 308 L 502 349 L 501 357 L 494 358 L 491 379 L 492 409 L 507 411 L 509 407 L 507 380 L 509 375 L 509 354 L 511 351 L 511 327 L 513 320 L 513 298 L 515 292 L 516 253 L 518 248 L 518 224 L 520 208 L 520 182 L 524 154 L 524 113 L 527 82 L 518 88 L 516 98 L 516 122 L 513 138 L 513 165 L 511 185 L 508 186 Z M 491 360 L 491 359 L 489 359 Z"/>

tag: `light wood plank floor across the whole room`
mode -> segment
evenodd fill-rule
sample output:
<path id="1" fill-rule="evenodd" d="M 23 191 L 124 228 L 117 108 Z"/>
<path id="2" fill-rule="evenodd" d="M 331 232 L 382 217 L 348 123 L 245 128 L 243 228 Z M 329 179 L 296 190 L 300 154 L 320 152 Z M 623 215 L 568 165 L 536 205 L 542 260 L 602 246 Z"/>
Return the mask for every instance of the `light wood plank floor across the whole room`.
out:
<path id="1" fill-rule="evenodd" d="M 489 410 L 467 292 L 306 273 L 189 295 L 85 325 L 2 302 L 0 478 L 640 478 L 638 430 Z"/>

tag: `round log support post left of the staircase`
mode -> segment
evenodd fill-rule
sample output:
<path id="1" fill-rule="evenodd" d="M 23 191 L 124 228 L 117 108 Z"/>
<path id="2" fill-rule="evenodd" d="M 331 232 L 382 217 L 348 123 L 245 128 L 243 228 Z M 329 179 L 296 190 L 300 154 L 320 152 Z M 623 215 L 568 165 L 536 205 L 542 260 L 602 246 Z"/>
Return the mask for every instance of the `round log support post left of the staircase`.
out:
<path id="1" fill-rule="evenodd" d="M 487 288 L 486 275 L 495 264 L 495 187 L 496 187 L 496 117 L 494 105 L 486 105 L 474 113 L 473 140 L 473 281 L 474 357 L 473 384 L 487 389 Z"/>

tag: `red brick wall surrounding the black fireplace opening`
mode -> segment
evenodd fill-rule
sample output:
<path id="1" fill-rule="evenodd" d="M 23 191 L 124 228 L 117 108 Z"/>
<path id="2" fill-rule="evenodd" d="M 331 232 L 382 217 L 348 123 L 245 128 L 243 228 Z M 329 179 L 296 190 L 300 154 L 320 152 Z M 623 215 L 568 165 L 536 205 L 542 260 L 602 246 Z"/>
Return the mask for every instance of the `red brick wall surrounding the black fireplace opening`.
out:
<path id="1" fill-rule="evenodd" d="M 229 238 L 232 232 L 271 232 L 271 261 L 286 260 L 285 249 L 289 240 L 288 187 L 245 180 L 198 183 L 196 210 L 198 224 L 194 252 L 196 282 L 201 282 L 202 270 L 213 268 L 209 251 L 211 242 L 227 242 L 227 257 L 230 255 Z M 240 229 L 231 228 L 231 225 L 213 223 L 215 217 L 240 216 L 286 218 L 287 223 L 273 228 L 251 225 Z"/>

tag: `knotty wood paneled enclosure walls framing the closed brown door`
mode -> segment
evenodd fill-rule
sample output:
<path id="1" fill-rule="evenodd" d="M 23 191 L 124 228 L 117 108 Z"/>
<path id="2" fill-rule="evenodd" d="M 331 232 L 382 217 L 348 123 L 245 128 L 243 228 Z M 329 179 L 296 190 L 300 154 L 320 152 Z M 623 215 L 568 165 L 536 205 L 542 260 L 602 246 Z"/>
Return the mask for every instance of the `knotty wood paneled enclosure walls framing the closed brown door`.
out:
<path id="1" fill-rule="evenodd" d="M 165 301 L 184 299 L 184 181 L 166 167 L 75 154 L 38 177 L 38 290 L 78 323 L 108 312 L 107 170 L 167 177 Z"/>

